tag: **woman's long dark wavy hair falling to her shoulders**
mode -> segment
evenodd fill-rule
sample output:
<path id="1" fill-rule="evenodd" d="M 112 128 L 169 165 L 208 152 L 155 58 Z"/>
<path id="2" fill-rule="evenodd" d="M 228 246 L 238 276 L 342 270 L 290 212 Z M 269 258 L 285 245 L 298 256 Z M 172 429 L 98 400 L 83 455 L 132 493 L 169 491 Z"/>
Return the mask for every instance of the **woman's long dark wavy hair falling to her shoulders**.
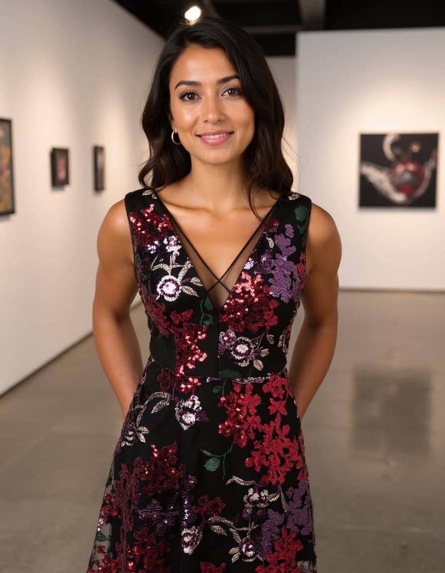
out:
<path id="1" fill-rule="evenodd" d="M 239 73 L 244 97 L 255 111 L 255 135 L 245 151 L 249 204 L 253 208 L 255 187 L 287 193 L 293 176 L 281 149 L 284 110 L 275 80 L 256 41 L 235 24 L 217 18 L 180 25 L 170 34 L 158 57 L 142 113 L 150 158 L 141 168 L 139 182 L 157 189 L 190 172 L 188 151 L 170 139 L 169 80 L 177 58 L 186 48 L 195 45 L 224 50 Z"/>

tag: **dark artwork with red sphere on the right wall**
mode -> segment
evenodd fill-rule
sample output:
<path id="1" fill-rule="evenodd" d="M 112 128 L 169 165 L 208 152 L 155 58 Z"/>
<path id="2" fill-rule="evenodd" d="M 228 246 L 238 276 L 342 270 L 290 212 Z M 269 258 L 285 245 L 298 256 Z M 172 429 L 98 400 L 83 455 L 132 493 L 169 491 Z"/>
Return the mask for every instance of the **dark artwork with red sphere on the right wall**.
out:
<path id="1" fill-rule="evenodd" d="M 360 207 L 436 207 L 439 135 L 361 134 Z"/>

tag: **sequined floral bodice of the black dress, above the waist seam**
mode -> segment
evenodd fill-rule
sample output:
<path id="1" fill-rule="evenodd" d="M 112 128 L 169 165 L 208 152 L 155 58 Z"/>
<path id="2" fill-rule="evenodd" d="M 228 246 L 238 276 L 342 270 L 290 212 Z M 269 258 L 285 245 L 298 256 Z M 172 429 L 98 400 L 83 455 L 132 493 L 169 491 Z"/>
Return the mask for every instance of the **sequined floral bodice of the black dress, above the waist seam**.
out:
<path id="1" fill-rule="evenodd" d="M 295 244 L 295 225 L 281 221 L 290 221 L 296 211 L 293 217 L 304 230 L 305 198 L 291 195 L 293 201 L 276 203 L 218 312 L 163 203 L 152 191 L 144 193 L 133 206 L 137 209 L 128 208 L 153 360 L 186 376 L 218 377 L 231 370 L 248 378 L 283 370 L 287 335 L 300 304 L 305 251 L 304 244 Z M 297 238 L 301 243 L 304 236 Z"/>

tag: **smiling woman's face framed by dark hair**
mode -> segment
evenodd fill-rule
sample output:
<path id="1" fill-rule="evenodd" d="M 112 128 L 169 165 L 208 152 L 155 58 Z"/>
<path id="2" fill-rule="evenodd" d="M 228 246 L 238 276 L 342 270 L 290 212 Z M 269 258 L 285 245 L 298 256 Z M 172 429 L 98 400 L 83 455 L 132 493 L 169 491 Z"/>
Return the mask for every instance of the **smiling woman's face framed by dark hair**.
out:
<path id="1" fill-rule="evenodd" d="M 186 48 L 173 66 L 169 89 L 172 129 L 192 165 L 240 165 L 255 133 L 255 111 L 224 50 Z"/>

